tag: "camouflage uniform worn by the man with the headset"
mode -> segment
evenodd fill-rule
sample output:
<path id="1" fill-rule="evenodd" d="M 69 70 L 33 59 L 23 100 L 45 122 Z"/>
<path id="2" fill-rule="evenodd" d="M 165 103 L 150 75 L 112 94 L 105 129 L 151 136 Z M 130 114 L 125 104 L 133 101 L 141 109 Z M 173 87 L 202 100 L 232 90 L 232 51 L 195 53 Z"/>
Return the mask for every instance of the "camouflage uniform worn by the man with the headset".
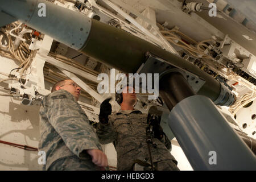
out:
<path id="1" fill-rule="evenodd" d="M 119 110 L 109 115 L 109 122 L 99 122 L 96 133 L 102 144 L 114 141 L 117 151 L 117 170 L 133 170 L 135 159 L 150 163 L 146 143 L 147 114 L 139 110 Z M 151 155 L 159 171 L 179 170 L 174 156 L 160 140 L 154 138 L 156 148 L 151 145 Z"/>

